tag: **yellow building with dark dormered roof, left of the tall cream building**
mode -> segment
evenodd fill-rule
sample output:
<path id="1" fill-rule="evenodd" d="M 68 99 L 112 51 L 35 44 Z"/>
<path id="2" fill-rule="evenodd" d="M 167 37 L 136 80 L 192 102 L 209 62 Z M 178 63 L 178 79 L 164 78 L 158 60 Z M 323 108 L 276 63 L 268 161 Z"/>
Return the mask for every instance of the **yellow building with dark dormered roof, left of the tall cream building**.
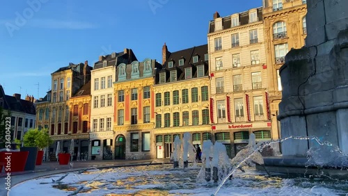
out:
<path id="1" fill-rule="evenodd" d="M 155 158 L 170 158 L 175 136 L 191 133 L 193 145 L 212 139 L 207 44 L 181 51 L 162 48 L 155 77 Z"/>

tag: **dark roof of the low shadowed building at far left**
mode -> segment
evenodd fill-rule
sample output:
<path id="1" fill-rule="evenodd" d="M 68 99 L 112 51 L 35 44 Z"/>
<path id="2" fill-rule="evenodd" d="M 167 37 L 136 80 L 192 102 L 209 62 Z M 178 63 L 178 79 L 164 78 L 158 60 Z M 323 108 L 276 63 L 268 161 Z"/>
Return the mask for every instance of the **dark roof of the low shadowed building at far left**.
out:
<path id="1" fill-rule="evenodd" d="M 24 99 L 17 100 L 15 97 L 5 95 L 2 86 L 0 85 L 0 99 L 3 99 L 3 108 L 8 111 L 17 111 L 35 115 L 35 106 L 33 102 Z"/>

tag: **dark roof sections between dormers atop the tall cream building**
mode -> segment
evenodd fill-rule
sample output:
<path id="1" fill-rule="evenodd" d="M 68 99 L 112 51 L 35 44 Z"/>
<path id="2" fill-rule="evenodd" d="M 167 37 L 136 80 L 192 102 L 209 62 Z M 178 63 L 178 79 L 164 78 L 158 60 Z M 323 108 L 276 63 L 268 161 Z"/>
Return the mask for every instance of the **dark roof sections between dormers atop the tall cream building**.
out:
<path id="1" fill-rule="evenodd" d="M 258 22 L 262 21 L 262 7 L 257 8 L 258 9 Z M 231 28 L 231 16 L 223 17 L 223 30 L 226 30 L 228 28 Z M 249 23 L 249 13 L 248 11 L 239 13 L 239 22 L 240 26 L 246 25 Z M 209 32 L 208 33 L 214 33 L 215 30 L 215 23 L 214 20 L 209 22 Z"/>

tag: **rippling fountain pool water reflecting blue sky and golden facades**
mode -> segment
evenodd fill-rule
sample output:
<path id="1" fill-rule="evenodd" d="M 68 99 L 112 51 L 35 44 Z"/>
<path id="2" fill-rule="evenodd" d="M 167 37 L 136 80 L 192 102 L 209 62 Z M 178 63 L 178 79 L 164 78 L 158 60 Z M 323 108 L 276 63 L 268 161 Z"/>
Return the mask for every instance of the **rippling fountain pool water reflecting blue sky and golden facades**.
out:
<path id="1" fill-rule="evenodd" d="M 91 169 L 32 179 L 14 186 L 16 195 L 212 195 L 218 183 L 198 182 L 199 165 L 175 168 L 150 165 L 125 168 Z M 59 179 L 61 179 L 59 181 Z M 267 177 L 264 172 L 246 168 L 237 172 L 216 195 L 348 195 L 348 182 L 323 179 Z"/>

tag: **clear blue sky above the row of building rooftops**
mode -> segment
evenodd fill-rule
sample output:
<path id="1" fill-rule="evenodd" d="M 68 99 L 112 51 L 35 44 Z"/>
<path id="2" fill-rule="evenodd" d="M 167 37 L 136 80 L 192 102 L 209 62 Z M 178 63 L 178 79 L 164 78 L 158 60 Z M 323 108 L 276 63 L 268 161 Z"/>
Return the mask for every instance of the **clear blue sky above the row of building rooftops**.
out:
<path id="1" fill-rule="evenodd" d="M 44 97 L 51 73 L 132 49 L 161 62 L 169 51 L 207 44 L 209 20 L 262 6 L 261 0 L 3 0 L 0 84 L 7 95 Z M 39 92 L 38 84 L 39 83 Z"/>

